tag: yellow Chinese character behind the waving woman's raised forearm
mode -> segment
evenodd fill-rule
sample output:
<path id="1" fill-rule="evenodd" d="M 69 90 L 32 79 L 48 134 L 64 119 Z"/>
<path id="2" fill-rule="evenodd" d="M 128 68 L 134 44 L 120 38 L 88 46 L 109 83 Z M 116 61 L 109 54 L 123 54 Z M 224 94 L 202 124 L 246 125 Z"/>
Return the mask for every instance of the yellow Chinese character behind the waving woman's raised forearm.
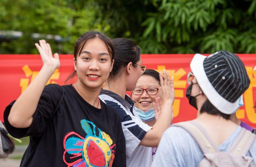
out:
<path id="1" fill-rule="evenodd" d="M 28 64 L 23 66 L 22 70 L 24 71 L 26 78 L 21 78 L 21 81 L 19 83 L 19 86 L 21 87 L 21 93 L 28 87 L 28 85 L 29 85 L 29 77 L 31 76 L 31 81 L 30 82 L 32 82 L 35 79 L 35 77 L 37 76 L 37 74 L 39 73 L 39 71 L 32 71 L 29 68 Z M 60 76 L 59 69 L 56 69 L 54 71 L 54 74 L 52 74 L 50 79 L 47 81 L 46 85 L 50 84 L 50 83 L 57 84 L 55 81 L 51 81 L 51 80 L 59 79 L 59 76 Z"/>

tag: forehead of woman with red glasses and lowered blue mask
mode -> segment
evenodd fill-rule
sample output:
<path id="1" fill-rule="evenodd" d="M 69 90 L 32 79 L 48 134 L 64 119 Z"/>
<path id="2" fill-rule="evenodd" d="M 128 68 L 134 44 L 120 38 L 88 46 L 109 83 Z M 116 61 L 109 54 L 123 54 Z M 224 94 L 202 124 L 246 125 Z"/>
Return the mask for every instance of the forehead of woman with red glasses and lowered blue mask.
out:
<path id="1" fill-rule="evenodd" d="M 149 75 L 142 75 L 137 81 L 136 84 L 137 87 L 142 87 L 142 88 L 149 88 L 149 87 L 159 87 L 160 84 L 156 81 L 155 78 Z"/>

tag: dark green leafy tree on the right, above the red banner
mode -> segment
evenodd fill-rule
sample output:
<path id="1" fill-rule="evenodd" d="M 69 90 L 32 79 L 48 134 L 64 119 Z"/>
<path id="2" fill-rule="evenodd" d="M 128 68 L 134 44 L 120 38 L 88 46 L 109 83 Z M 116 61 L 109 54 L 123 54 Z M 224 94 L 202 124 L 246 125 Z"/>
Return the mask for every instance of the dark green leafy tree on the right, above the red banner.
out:
<path id="1" fill-rule="evenodd" d="M 134 39 L 143 53 L 256 53 L 256 0 L 97 2 L 109 34 Z"/>

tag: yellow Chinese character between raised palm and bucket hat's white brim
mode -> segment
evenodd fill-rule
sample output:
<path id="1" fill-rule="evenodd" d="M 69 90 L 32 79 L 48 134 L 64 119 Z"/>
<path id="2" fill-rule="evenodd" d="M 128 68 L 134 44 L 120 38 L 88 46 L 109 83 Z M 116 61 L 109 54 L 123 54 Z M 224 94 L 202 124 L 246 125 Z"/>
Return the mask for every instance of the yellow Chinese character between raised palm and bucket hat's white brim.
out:
<path id="1" fill-rule="evenodd" d="M 160 72 L 166 69 L 165 66 L 157 66 L 156 71 Z M 178 69 L 178 71 L 172 69 L 166 69 L 169 72 L 170 76 L 173 76 L 174 79 L 174 88 L 186 88 L 187 81 L 180 80 L 186 73 L 183 68 Z M 183 98 L 184 90 L 175 89 L 175 98 Z M 180 99 L 175 99 L 173 104 L 173 117 L 178 116 L 180 112 Z"/>

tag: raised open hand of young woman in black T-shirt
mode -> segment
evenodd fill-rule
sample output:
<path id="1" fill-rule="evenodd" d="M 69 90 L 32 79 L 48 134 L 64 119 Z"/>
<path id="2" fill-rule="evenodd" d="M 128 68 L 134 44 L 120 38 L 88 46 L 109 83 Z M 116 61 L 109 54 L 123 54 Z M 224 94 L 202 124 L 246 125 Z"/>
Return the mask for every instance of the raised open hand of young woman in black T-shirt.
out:
<path id="1" fill-rule="evenodd" d="M 39 40 L 39 44 L 36 43 L 35 46 L 40 53 L 44 66 L 52 67 L 53 71 L 60 67 L 59 54 L 55 53 L 52 56 L 50 44 L 46 43 L 45 40 Z"/>

